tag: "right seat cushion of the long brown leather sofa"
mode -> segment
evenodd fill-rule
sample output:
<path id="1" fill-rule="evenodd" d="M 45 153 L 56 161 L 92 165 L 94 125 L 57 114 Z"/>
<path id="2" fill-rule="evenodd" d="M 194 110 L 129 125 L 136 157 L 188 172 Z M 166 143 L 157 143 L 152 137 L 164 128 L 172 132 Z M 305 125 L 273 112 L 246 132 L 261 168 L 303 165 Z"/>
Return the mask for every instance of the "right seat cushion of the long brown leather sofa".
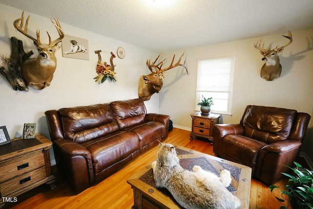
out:
<path id="1" fill-rule="evenodd" d="M 154 121 L 146 121 L 123 130 L 136 133 L 141 146 L 145 146 L 156 139 L 161 139 L 165 135 L 164 125 Z"/>

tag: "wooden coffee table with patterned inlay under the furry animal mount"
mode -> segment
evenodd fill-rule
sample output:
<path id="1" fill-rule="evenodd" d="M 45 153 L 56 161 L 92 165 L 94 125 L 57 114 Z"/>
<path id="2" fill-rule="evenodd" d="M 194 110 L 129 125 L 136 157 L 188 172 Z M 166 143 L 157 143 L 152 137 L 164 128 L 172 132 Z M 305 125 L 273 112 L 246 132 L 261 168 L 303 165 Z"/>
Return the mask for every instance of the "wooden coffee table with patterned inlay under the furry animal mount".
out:
<path id="1" fill-rule="evenodd" d="M 194 165 L 200 165 L 202 169 L 209 170 L 217 175 L 224 169 L 229 170 L 232 175 L 232 183 L 227 189 L 241 200 L 241 209 L 249 208 L 250 167 L 180 146 L 176 147 L 176 151 L 180 159 L 180 165 L 187 170 L 192 170 Z M 181 208 L 167 189 L 156 188 L 151 163 L 127 180 L 127 183 L 134 189 L 134 206 L 132 208 Z"/>

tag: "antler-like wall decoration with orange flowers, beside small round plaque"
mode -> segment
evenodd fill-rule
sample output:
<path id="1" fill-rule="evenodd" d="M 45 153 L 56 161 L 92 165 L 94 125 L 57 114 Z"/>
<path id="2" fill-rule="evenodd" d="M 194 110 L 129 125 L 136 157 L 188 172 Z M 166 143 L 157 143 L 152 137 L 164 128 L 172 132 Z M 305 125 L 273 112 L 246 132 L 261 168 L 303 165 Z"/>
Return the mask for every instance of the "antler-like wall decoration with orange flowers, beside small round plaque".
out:
<path id="1" fill-rule="evenodd" d="M 105 82 L 107 78 L 109 78 L 110 81 L 115 82 L 116 72 L 114 72 L 115 65 L 113 64 L 113 58 L 115 58 L 115 55 L 111 51 L 111 58 L 110 58 L 111 65 L 108 65 L 106 62 L 102 63 L 100 52 L 102 51 L 101 50 L 94 51 L 94 53 L 98 54 L 98 63 L 96 67 L 96 72 L 98 75 L 94 77 L 93 79 L 95 79 L 95 82 L 98 82 L 99 84 Z"/>

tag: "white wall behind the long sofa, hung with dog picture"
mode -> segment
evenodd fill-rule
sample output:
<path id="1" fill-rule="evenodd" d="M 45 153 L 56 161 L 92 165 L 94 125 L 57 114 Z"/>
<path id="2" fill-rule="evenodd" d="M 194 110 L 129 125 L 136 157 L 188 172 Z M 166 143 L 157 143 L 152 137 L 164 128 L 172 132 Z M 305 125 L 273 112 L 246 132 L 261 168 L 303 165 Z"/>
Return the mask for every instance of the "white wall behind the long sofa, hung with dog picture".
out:
<path id="1" fill-rule="evenodd" d="M 26 52 L 33 50 L 37 56 L 32 41 L 13 27 L 14 20 L 20 18 L 21 14 L 22 10 L 0 4 L 0 54 L 10 55 L 9 38 L 15 36 L 23 41 Z M 58 37 L 49 19 L 25 11 L 25 17 L 28 15 L 30 15 L 28 32 L 34 37 L 36 29 L 41 29 L 43 43 L 48 42 L 45 31 L 49 32 L 52 39 Z M 105 23 L 99 25 L 105 27 Z M 29 92 L 14 91 L 7 80 L 0 75 L 0 126 L 6 126 L 10 138 L 22 136 L 24 123 L 37 123 L 36 132 L 49 138 L 44 114 L 46 110 L 138 98 L 139 78 L 150 72 L 145 64 L 146 59 L 157 56 L 156 52 L 62 22 L 61 26 L 65 34 L 88 40 L 89 60 L 64 58 L 62 50 L 59 49 L 56 52 L 57 69 L 51 85 L 40 91 L 32 88 Z M 116 50 L 119 46 L 125 49 L 126 56 L 124 59 L 119 59 L 117 56 L 113 59 L 116 65 L 117 82 L 111 83 L 107 80 L 99 85 L 93 79 L 97 75 L 95 67 L 98 62 L 98 56 L 94 51 L 101 49 L 102 61 L 110 63 L 110 52 L 117 55 Z M 155 94 L 145 102 L 148 113 L 158 113 L 158 99 L 158 94 Z M 53 155 L 51 159 L 54 160 Z"/>

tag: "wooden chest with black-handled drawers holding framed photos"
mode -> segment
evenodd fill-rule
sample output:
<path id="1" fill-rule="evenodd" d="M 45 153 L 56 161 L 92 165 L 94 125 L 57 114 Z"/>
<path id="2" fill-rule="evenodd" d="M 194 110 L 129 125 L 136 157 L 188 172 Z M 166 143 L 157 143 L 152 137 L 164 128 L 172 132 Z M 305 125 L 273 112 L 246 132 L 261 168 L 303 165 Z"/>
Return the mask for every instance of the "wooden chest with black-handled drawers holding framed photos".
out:
<path id="1" fill-rule="evenodd" d="M 14 198 L 37 186 L 55 187 L 49 148 L 52 142 L 41 134 L 35 139 L 16 139 L 0 146 L 0 207 L 3 198 Z"/>

